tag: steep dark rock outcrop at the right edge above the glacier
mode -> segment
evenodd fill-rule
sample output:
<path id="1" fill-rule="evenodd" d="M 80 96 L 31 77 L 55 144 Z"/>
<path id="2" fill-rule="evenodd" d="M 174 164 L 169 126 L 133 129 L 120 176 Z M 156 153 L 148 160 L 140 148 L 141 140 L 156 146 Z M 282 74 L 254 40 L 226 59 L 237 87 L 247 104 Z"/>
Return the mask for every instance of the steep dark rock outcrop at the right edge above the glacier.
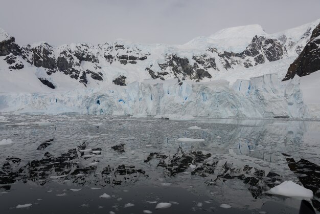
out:
<path id="1" fill-rule="evenodd" d="M 320 70 L 320 23 L 312 31 L 306 47 L 290 65 L 283 81 L 292 79 L 294 75 L 306 76 L 318 70 Z"/>

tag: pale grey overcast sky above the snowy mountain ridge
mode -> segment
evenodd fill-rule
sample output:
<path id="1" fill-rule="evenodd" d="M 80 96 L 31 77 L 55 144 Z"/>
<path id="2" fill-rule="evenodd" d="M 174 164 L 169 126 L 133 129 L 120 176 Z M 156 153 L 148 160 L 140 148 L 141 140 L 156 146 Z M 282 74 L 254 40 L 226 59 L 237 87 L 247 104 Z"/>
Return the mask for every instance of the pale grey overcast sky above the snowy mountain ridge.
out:
<path id="1" fill-rule="evenodd" d="M 118 38 L 184 44 L 234 26 L 267 33 L 320 18 L 319 0 L 1 0 L 0 28 L 21 45 L 100 44 Z"/>

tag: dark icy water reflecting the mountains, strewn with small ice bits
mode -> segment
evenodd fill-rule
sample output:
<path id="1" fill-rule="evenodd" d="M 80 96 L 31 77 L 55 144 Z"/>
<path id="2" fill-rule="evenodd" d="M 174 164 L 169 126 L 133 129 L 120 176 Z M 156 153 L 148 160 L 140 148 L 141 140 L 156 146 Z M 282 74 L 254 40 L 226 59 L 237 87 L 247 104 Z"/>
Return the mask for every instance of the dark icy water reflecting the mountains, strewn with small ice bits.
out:
<path id="1" fill-rule="evenodd" d="M 287 180 L 320 211 L 317 121 L 4 116 L 0 213 L 298 213 Z"/>

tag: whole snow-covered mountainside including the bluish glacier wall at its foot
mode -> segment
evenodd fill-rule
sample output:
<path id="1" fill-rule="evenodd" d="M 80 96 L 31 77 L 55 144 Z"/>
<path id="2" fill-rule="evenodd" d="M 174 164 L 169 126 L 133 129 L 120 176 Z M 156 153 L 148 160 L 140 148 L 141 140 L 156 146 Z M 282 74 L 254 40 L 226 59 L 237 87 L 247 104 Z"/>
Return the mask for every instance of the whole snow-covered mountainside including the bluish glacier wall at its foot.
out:
<path id="1" fill-rule="evenodd" d="M 299 87 L 292 86 L 296 80 L 292 85 L 279 81 L 319 22 L 276 34 L 267 34 L 259 25 L 227 28 L 184 45 L 118 40 L 97 46 L 54 47 L 47 42 L 20 46 L 0 30 L 0 111 L 164 115 L 186 114 L 190 108 L 194 116 L 305 117 Z M 267 80 L 270 73 L 277 75 L 269 75 Z M 258 76 L 263 77 L 253 79 Z M 262 95 L 261 90 L 267 94 Z M 164 98 L 172 92 L 173 97 Z M 221 93 L 224 97 L 217 96 Z M 289 94 L 295 94 L 296 99 L 292 101 Z M 152 103 L 143 101 L 147 97 Z M 265 101 L 261 104 L 269 98 L 283 103 L 278 107 Z M 210 102 L 204 107 L 198 99 Z M 48 105 L 58 100 L 59 109 L 55 106 L 50 112 L 52 106 Z M 99 106 L 92 108 L 89 103 L 97 105 L 97 100 Z M 107 103 L 104 108 L 102 100 Z M 257 103 L 262 107 L 254 110 Z"/>

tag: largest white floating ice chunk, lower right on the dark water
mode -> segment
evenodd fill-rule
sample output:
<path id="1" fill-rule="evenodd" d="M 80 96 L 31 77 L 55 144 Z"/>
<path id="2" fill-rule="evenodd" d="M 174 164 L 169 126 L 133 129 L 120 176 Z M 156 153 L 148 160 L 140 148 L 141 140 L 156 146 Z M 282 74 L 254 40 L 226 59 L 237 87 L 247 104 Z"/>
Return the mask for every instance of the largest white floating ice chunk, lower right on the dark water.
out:
<path id="1" fill-rule="evenodd" d="M 268 193 L 287 197 L 313 198 L 313 193 L 292 181 L 285 181 L 278 186 L 271 188 Z"/>

